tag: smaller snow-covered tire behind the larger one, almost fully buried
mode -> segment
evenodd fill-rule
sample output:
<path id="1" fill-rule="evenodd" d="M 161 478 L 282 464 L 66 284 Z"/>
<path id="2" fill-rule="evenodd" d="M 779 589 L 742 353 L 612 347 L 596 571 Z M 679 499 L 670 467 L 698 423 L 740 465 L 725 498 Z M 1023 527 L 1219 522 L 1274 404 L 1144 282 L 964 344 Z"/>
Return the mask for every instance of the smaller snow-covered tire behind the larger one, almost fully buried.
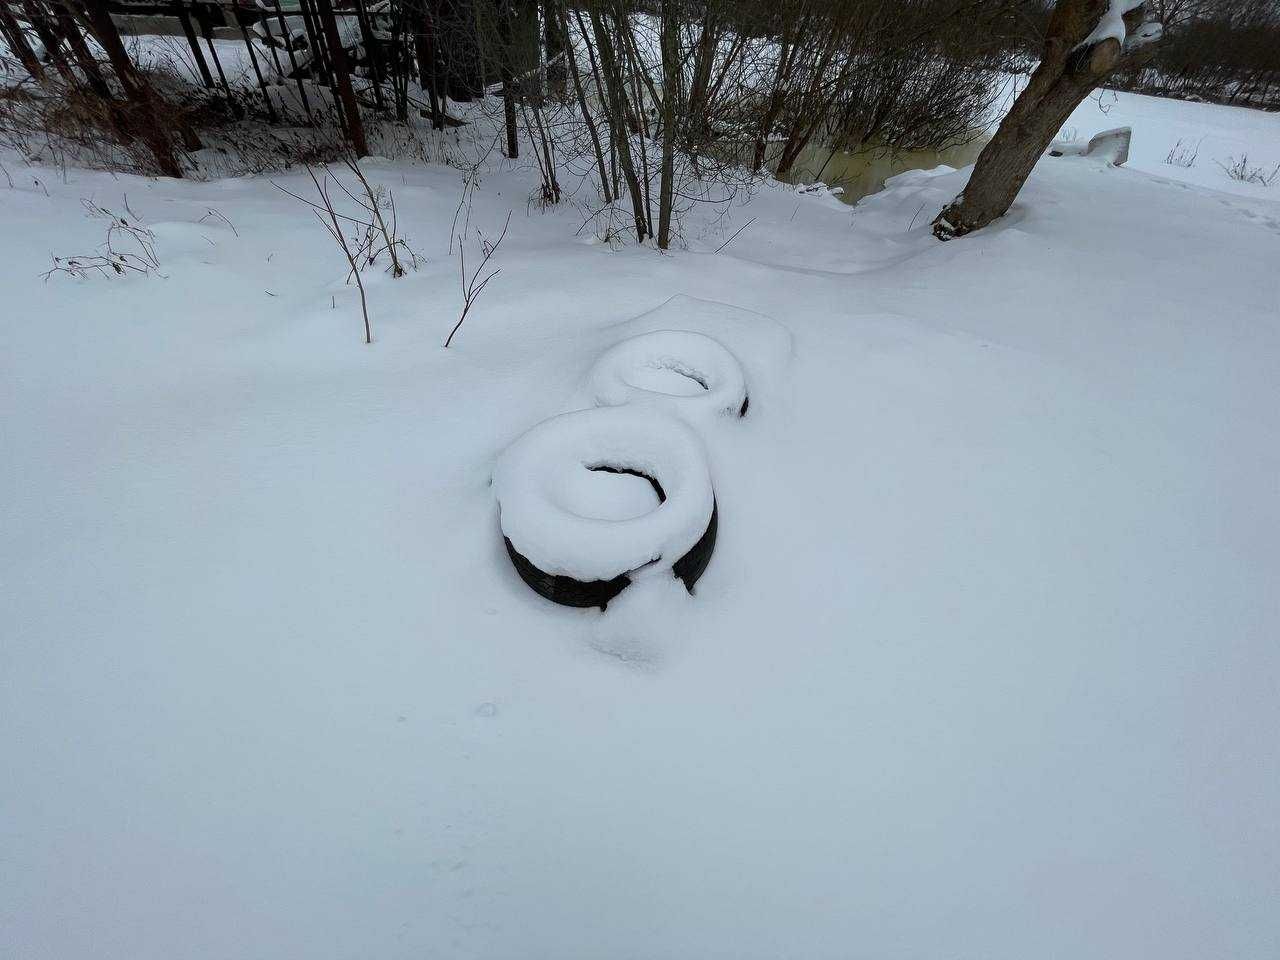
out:
<path id="1" fill-rule="evenodd" d="M 680 416 L 745 416 L 746 378 L 737 357 L 691 330 L 654 330 L 605 351 L 588 375 L 595 403 L 660 404 Z"/>

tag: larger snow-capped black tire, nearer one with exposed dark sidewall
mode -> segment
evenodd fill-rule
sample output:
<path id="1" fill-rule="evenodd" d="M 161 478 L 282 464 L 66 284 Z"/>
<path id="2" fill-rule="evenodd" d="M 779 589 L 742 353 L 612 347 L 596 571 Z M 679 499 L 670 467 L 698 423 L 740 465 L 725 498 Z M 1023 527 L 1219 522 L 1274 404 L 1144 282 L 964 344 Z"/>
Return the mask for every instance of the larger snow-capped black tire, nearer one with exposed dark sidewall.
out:
<path id="1" fill-rule="evenodd" d="M 564 502 L 581 470 L 644 477 L 658 506 L 630 520 L 582 516 Z M 716 547 L 701 440 L 653 408 L 600 407 L 543 421 L 498 458 L 494 493 L 516 572 L 568 607 L 604 609 L 640 576 L 675 576 L 691 593 Z"/>

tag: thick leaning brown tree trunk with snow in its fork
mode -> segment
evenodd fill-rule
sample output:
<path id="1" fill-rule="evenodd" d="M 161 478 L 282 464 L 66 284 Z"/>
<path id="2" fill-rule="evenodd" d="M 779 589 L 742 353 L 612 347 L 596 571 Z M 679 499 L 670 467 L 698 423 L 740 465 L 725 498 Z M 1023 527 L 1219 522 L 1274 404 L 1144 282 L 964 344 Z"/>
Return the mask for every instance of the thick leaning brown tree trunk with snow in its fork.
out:
<path id="1" fill-rule="evenodd" d="M 1103 14 L 1120 0 L 1059 0 L 1050 19 L 1039 67 L 983 147 L 964 191 L 933 220 L 933 236 L 947 241 L 1004 216 L 1071 111 L 1094 87 L 1120 69 L 1140 65 L 1155 52 L 1158 27 L 1135 36 L 1143 6 L 1124 15 L 1129 40 L 1115 37 L 1082 46 Z"/>

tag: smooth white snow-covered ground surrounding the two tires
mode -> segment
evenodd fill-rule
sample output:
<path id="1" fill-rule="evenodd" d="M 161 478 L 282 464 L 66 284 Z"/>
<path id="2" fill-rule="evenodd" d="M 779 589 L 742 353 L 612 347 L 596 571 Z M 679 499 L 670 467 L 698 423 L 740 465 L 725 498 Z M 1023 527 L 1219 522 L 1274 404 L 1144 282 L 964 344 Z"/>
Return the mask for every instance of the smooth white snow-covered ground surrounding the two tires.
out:
<path id="1" fill-rule="evenodd" d="M 1212 161 L 1280 116 L 1069 127 L 1121 123 L 947 244 L 963 172 L 664 256 L 493 169 L 448 351 L 458 170 L 365 164 L 426 256 L 365 346 L 266 179 L 5 157 L 0 952 L 1276 956 L 1280 184 Z M 125 197 L 163 275 L 42 282 Z M 750 390 L 696 425 L 710 566 L 556 607 L 495 458 L 672 328 Z"/>

